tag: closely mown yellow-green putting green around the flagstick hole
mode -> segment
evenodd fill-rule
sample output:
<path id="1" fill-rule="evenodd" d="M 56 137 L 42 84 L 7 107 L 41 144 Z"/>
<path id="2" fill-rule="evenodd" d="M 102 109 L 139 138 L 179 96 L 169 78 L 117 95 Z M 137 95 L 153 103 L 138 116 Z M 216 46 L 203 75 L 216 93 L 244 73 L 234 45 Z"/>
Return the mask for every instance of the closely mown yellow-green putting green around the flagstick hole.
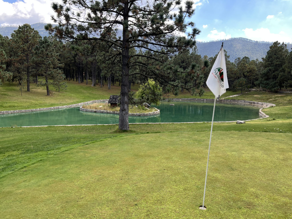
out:
<path id="1" fill-rule="evenodd" d="M 209 135 L 121 133 L 49 156 L 0 179 L 1 218 L 291 218 L 291 133 L 214 131 L 199 210 Z"/>

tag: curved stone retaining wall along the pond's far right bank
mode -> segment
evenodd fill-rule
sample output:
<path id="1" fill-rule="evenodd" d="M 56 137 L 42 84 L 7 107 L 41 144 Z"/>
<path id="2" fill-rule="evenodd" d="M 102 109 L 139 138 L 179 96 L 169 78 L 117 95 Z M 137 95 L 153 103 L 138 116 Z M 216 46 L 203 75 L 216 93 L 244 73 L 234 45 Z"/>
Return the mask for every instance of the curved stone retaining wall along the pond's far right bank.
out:
<path id="1" fill-rule="evenodd" d="M 194 99 L 194 98 L 169 98 L 169 101 L 192 101 L 192 102 L 204 102 L 204 103 L 213 103 L 214 99 Z M 216 103 L 227 103 L 227 104 L 234 104 L 234 105 L 241 105 L 241 106 L 251 106 L 251 107 L 258 107 L 260 108 L 259 111 L 259 117 L 267 118 L 269 117 L 267 114 L 265 114 L 262 109 L 265 109 L 267 107 L 274 107 L 275 104 L 272 103 L 266 103 L 266 102 L 256 102 L 256 101 L 249 101 L 249 100 L 225 100 L 225 99 L 219 99 L 216 100 Z"/>

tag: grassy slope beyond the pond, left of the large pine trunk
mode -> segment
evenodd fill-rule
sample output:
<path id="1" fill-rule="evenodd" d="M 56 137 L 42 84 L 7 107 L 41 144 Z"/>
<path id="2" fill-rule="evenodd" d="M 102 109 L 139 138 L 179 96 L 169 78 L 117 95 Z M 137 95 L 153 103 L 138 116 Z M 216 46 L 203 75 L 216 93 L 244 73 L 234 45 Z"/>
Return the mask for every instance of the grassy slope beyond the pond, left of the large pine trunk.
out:
<path id="1" fill-rule="evenodd" d="M 76 81 L 67 81 L 67 86 L 67 90 L 54 91 L 53 95 L 47 96 L 45 87 L 31 84 L 31 91 L 22 91 L 21 96 L 19 87 L 15 83 L 10 86 L 5 83 L 0 86 L 0 111 L 64 106 L 90 100 L 109 99 L 110 95 L 119 95 L 121 92 L 119 86 L 112 86 L 112 89 L 108 90 L 107 86 L 92 87 L 91 84 L 78 84 Z"/>

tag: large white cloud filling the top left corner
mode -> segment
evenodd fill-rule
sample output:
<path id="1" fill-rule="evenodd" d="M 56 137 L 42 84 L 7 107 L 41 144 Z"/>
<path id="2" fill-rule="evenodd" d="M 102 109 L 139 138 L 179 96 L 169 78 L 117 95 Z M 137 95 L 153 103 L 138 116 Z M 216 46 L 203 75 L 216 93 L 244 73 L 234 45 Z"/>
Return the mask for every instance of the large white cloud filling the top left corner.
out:
<path id="1" fill-rule="evenodd" d="M 0 0 L 0 24 L 51 23 L 50 16 L 55 15 L 51 8 L 53 1 L 61 2 L 61 0 L 23 0 L 8 3 Z"/>

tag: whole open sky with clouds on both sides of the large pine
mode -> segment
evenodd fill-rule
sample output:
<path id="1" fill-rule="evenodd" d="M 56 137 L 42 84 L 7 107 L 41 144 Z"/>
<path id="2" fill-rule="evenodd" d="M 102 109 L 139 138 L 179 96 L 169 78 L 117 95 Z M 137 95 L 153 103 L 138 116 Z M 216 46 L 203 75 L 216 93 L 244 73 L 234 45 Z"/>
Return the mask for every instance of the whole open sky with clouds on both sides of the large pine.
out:
<path id="1" fill-rule="evenodd" d="M 60 0 L 0 0 L 0 25 L 52 23 L 53 1 Z M 292 0 L 193 1 L 195 14 L 189 21 L 201 30 L 197 41 L 243 37 L 292 43 Z"/>

